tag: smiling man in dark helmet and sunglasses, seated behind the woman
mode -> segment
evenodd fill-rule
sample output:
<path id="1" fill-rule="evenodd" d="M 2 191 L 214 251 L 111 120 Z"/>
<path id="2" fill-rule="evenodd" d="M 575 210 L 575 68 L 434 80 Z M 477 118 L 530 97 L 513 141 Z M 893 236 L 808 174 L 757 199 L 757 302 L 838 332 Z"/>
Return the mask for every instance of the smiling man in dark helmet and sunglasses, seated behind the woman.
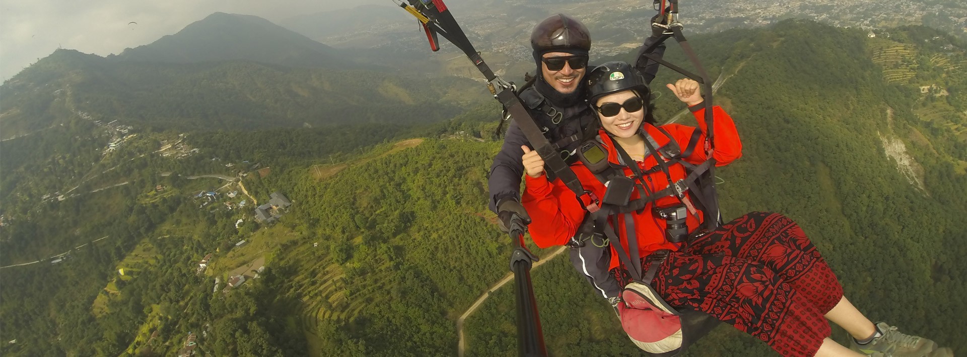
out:
<path id="1" fill-rule="evenodd" d="M 661 36 L 661 28 L 653 29 L 652 37 L 644 42 L 638 52 L 639 59 L 643 58 L 644 50 Z M 555 14 L 534 28 L 531 48 L 537 65 L 537 78 L 533 86 L 520 93 L 520 99 L 542 128 L 544 136 L 570 164 L 576 160 L 574 151 L 582 140 L 582 133 L 598 120 L 597 113 L 585 99 L 586 88 L 582 80 L 584 74 L 591 70 L 588 69 L 591 34 L 577 19 L 566 14 Z M 652 53 L 660 56 L 663 52 L 662 44 Z M 659 65 L 643 60 L 639 60 L 638 64 L 644 73 L 645 83 L 651 83 Z M 524 151 L 521 146 L 533 149 L 520 128 L 511 122 L 504 145 L 490 166 L 488 206 L 498 214 L 499 224 L 504 231 L 507 231 L 513 213 L 527 223 L 530 220 L 520 205 L 520 178 L 524 173 L 521 163 Z M 593 228 L 593 224 L 589 228 Z M 579 234 L 571 239 L 571 263 L 614 306 L 620 287 L 608 273 L 609 251 L 605 241 L 589 238 L 591 236 Z"/>

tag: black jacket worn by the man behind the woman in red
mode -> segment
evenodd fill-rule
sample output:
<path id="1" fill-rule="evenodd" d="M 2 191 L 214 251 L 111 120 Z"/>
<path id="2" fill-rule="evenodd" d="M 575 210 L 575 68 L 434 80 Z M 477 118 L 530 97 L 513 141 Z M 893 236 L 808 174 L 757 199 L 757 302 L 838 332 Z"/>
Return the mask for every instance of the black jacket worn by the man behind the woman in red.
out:
<path id="1" fill-rule="evenodd" d="M 638 59 L 643 59 L 644 50 L 654 41 L 658 41 L 658 39 L 654 37 L 646 39 L 635 58 L 637 66 L 645 75 L 646 84 L 655 79 L 659 64 L 650 60 L 639 61 Z M 661 44 L 652 53 L 661 56 L 664 54 L 664 49 L 664 44 Z M 589 73 L 593 69 L 589 67 L 585 73 Z M 537 75 L 539 76 L 538 81 L 542 81 L 541 73 L 538 72 Z M 581 85 L 584 86 L 583 78 Z M 521 92 L 519 95 L 521 101 L 529 108 L 531 117 L 534 118 L 538 126 L 542 129 L 546 128 L 544 136 L 551 144 L 558 144 L 560 151 L 574 151 L 581 142 L 582 131 L 589 124 L 597 123 L 597 113 L 591 109 L 591 106 L 585 100 L 578 100 L 567 107 L 557 107 L 547 99 L 548 96 L 543 95 L 538 90 L 538 87 L 532 86 Z M 541 87 L 548 88 L 549 86 Z M 583 91 L 583 88 L 579 90 Z M 555 121 L 552 117 L 545 113 L 548 111 L 553 113 L 553 111 L 548 110 L 551 107 L 562 114 L 558 124 L 554 124 Z M 576 135 L 576 137 L 573 137 L 573 135 Z M 524 155 L 524 151 L 520 150 L 521 145 L 534 149 L 527 138 L 524 137 L 520 128 L 517 127 L 517 124 L 511 121 L 504 138 L 504 145 L 501 146 L 500 152 L 497 153 L 497 156 L 493 159 L 493 164 L 490 165 L 490 175 L 487 180 L 487 188 L 490 192 L 490 200 L 487 206 L 494 212 L 497 211 L 497 203 L 504 198 L 513 198 L 518 202 L 520 201 L 520 178 L 524 175 L 524 165 L 520 159 Z"/>

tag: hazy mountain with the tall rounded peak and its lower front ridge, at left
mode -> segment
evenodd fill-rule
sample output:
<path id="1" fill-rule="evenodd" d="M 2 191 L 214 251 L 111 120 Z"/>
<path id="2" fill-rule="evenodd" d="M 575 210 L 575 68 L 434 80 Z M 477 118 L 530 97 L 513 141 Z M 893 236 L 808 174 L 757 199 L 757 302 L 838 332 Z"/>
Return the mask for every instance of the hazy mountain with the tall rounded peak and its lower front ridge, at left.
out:
<path id="1" fill-rule="evenodd" d="M 154 131 L 430 123 L 486 100 L 471 80 L 352 62 L 263 18 L 216 13 L 117 56 L 54 51 L 0 86 L 0 132 L 77 121 Z"/>

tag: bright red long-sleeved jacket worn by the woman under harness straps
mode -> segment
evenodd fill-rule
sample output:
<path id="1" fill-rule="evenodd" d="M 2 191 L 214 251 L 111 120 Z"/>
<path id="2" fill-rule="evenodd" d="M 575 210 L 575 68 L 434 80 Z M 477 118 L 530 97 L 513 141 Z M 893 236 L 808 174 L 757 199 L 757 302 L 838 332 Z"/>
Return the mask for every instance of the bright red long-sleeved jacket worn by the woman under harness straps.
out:
<path id="1" fill-rule="evenodd" d="M 742 143 L 739 141 L 739 133 L 736 131 L 732 118 L 721 107 L 715 106 L 712 110 L 716 129 L 716 136 L 714 138 L 716 149 L 712 153 L 712 156 L 716 159 L 716 166 L 723 166 L 742 156 Z M 698 108 L 693 112 L 697 119 L 699 129 L 703 132 L 699 138 L 699 143 L 705 142 L 704 132 L 706 132 L 706 125 L 704 113 L 704 108 Z M 657 127 L 652 124 L 644 124 L 643 126 L 645 132 L 659 145 L 657 148 L 663 147 L 668 143 L 668 137 L 659 131 Z M 689 145 L 689 138 L 695 130 L 695 127 L 683 124 L 665 124 L 661 125 L 661 127 L 668 131 L 668 134 L 678 142 L 682 151 L 685 151 L 685 148 Z M 611 138 L 603 129 L 599 133 L 602 144 L 608 151 L 608 161 L 619 164 L 618 153 L 614 150 L 614 144 L 611 142 Z M 692 164 L 704 162 L 708 156 L 702 147 L 703 145 L 699 144 L 698 148 L 695 148 L 688 157 L 683 157 L 683 159 Z M 637 162 L 638 167 L 643 172 L 658 164 L 650 154 L 646 154 L 645 156 L 647 157 L 644 162 Z M 571 169 L 577 175 L 577 178 L 580 179 L 585 190 L 590 190 L 597 197 L 604 197 L 604 185 L 598 178 L 591 174 L 587 167 L 578 162 L 571 165 Z M 626 176 L 631 176 L 631 170 L 628 167 L 624 168 L 624 172 Z M 677 181 L 687 176 L 685 167 L 681 164 L 671 165 L 669 172 L 672 176 L 672 181 Z M 657 192 L 668 186 L 668 179 L 661 171 L 648 174 L 645 177 L 651 179 L 642 179 L 641 182 L 647 185 L 652 192 Z M 551 183 L 547 181 L 545 175 L 539 178 L 531 178 L 525 175 L 525 180 L 527 189 L 524 191 L 521 201 L 524 208 L 527 209 L 527 213 L 531 216 L 532 223 L 528 229 L 531 233 L 531 238 L 534 239 L 534 243 L 541 248 L 566 244 L 571 239 L 571 236 L 577 232 L 577 227 L 584 219 L 586 211 L 578 204 L 574 193 L 560 179 Z M 695 199 L 690 196 L 689 191 L 689 199 L 691 202 L 695 202 Z M 631 200 L 638 198 L 640 196 L 637 190 L 635 190 L 631 196 Z M 663 197 L 645 206 L 641 214 L 631 212 L 635 220 L 635 236 L 638 239 L 640 257 L 646 257 L 659 249 L 678 250 L 677 245 L 665 239 L 665 222 L 654 216 L 652 207 L 655 204 L 665 206 L 678 204 L 679 202 L 674 196 Z M 689 212 L 686 221 L 689 226 L 689 232 L 701 225 L 702 216 L 701 211 L 695 212 L 695 214 Z M 621 238 L 621 243 L 627 252 L 628 238 L 624 230 L 624 215 L 618 216 L 618 224 L 621 229 L 615 231 Z M 617 266 L 618 258 L 612 251 L 611 268 Z"/>

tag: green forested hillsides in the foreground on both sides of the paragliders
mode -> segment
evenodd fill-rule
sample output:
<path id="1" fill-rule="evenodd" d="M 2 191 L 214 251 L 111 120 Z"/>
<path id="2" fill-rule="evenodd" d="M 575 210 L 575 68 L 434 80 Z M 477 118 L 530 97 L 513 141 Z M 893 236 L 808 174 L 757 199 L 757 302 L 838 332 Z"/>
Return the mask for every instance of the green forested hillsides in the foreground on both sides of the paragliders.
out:
<path id="1" fill-rule="evenodd" d="M 873 41 L 864 32 L 786 21 L 694 40 L 712 75 L 727 78 L 718 103 L 735 119 L 745 147 L 742 159 L 718 171 L 723 214 L 773 210 L 793 217 L 864 313 L 962 352 L 967 152 L 952 124 L 967 110 L 957 87 L 963 71 L 930 65 L 947 52 L 922 44 L 923 34 L 936 36 L 929 30 L 892 33 L 892 40 Z M 926 61 L 903 81 L 889 79 L 890 65 L 876 57 L 896 45 Z M 944 56 L 955 63 L 963 48 Z M 663 71 L 656 86 L 673 77 Z M 948 95 L 921 93 L 927 82 Z M 662 116 L 678 108 L 667 95 L 659 101 Z M 488 135 L 496 106 L 422 127 L 189 134 L 185 142 L 200 151 L 185 158 L 139 157 L 132 145 L 117 153 L 130 167 L 95 179 L 132 183 L 44 205 L 20 192 L 30 185 L 7 186 L 4 178 L 15 192 L 4 193 L 0 206 L 7 217 L 0 251 L 60 253 L 59 247 L 110 237 L 58 264 L 3 269 L 0 341 L 18 343 L 0 353 L 171 355 L 189 332 L 204 332 L 196 348 L 217 356 L 455 355 L 456 318 L 508 271 L 510 240 L 485 207 L 486 170 L 499 150 Z M 67 127 L 51 132 L 71 137 Z M 144 144 L 148 152 L 177 137 L 142 135 L 153 140 Z M 398 141 L 413 137 L 424 140 Z M 28 138 L 0 149 L 30 152 L 23 145 Z M 334 144 L 344 147 L 330 149 Z M 55 156 L 49 165 L 59 167 L 58 159 L 79 165 L 82 157 Z M 23 161 L 29 160 L 15 162 Z M 234 173 L 247 174 L 241 183 L 259 203 L 280 191 L 293 208 L 277 224 L 261 226 L 250 208 L 223 206 L 248 197 L 222 196 L 207 206 L 194 197 L 224 180 L 185 178 Z M 11 181 L 39 177 L 33 169 L 17 175 Z M 156 192 L 157 184 L 168 193 Z M 236 189 L 233 183 L 220 193 Z M 31 233 L 40 229 L 32 227 L 49 228 L 35 238 Z M 22 243 L 31 239 L 40 240 Z M 243 239 L 248 243 L 235 248 Z M 212 263 L 196 274 L 197 261 L 209 253 Z M 258 259 L 267 266 L 260 278 L 225 294 L 213 291 L 216 278 L 223 288 L 230 271 Z M 124 278 L 119 268 L 133 272 Z M 567 259 L 542 265 L 533 277 L 553 355 L 637 354 Z M 465 322 L 467 355 L 515 355 L 513 314 L 512 287 L 490 293 Z M 92 327 L 64 328 L 78 325 Z M 689 354 L 771 353 L 722 326 Z"/>

